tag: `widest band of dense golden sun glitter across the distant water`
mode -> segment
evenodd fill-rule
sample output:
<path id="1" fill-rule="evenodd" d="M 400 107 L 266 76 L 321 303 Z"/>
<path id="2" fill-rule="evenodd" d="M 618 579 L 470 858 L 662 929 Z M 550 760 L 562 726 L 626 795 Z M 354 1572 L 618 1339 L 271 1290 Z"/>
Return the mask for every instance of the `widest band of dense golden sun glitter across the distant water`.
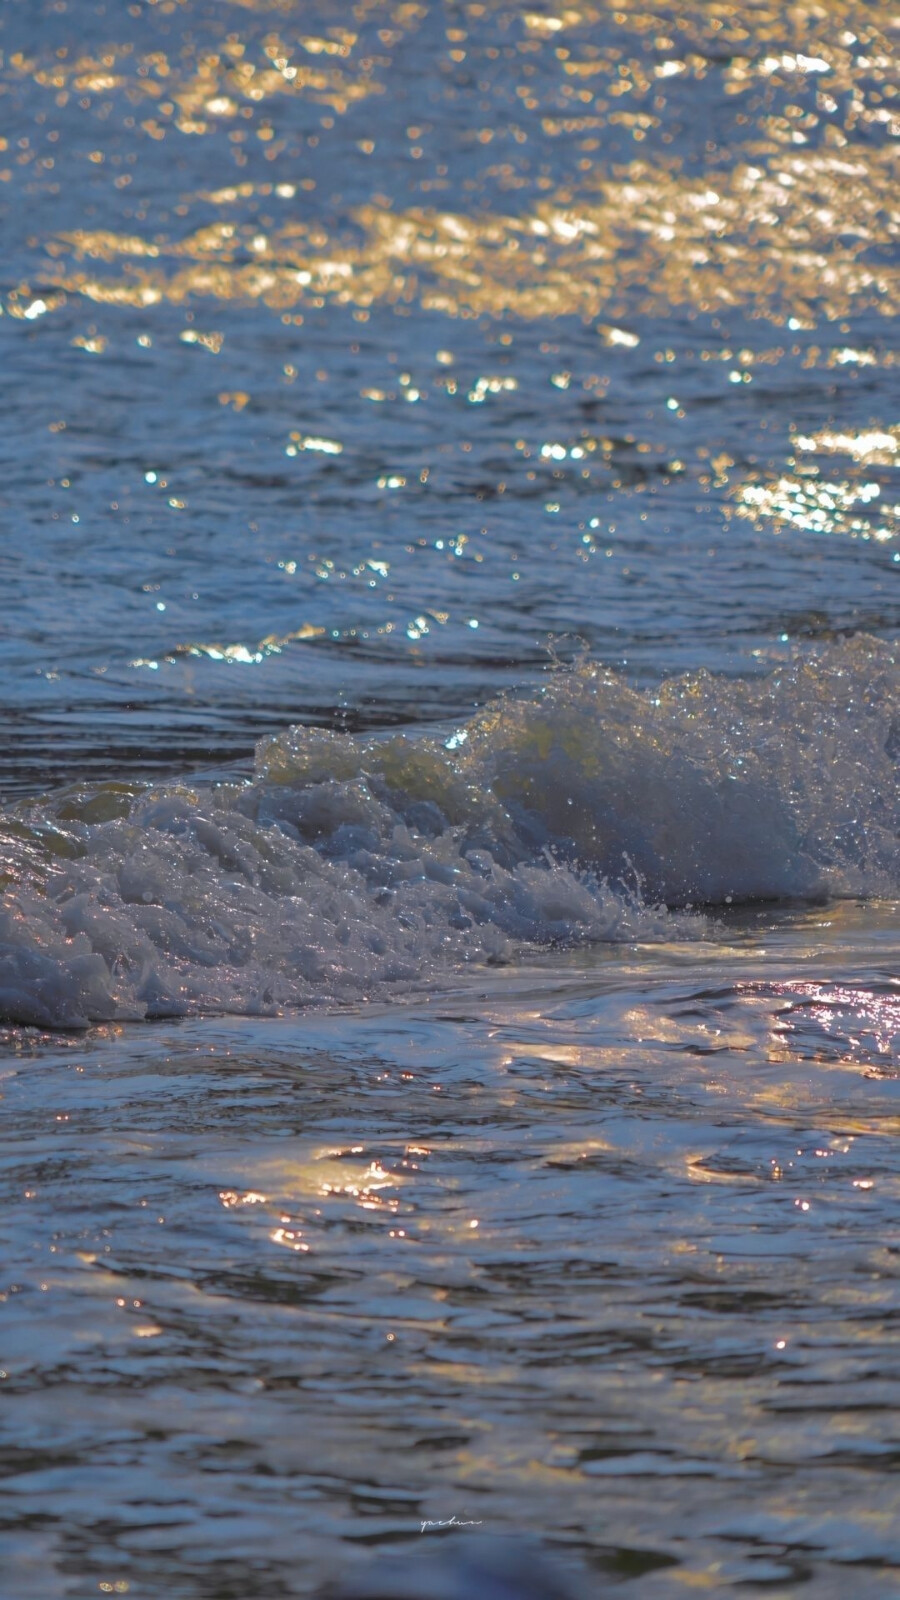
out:
<path id="1" fill-rule="evenodd" d="M 416 299 L 452 317 L 594 318 L 639 291 L 642 312 L 741 306 L 785 323 L 788 307 L 798 326 L 863 306 L 897 314 L 897 267 L 871 262 L 873 246 L 894 243 L 892 150 L 868 150 L 855 166 L 830 152 L 804 152 L 767 171 L 738 166 L 716 182 L 713 190 L 633 163 L 628 181 L 602 184 L 577 205 L 560 194 L 519 216 L 367 203 L 351 216 L 362 242 L 303 214 L 267 234 L 237 218 L 184 238 L 78 229 L 48 243 L 46 274 L 56 290 L 146 307 L 197 296 L 261 299 L 275 310 Z M 854 224 L 836 245 L 834 218 L 849 189 Z M 83 261 L 125 262 L 125 275 L 99 277 L 83 270 Z M 194 334 L 186 342 L 216 338 Z M 636 342 L 615 326 L 605 338 Z M 490 376 L 482 379 L 484 394 L 495 392 L 490 386 Z"/>

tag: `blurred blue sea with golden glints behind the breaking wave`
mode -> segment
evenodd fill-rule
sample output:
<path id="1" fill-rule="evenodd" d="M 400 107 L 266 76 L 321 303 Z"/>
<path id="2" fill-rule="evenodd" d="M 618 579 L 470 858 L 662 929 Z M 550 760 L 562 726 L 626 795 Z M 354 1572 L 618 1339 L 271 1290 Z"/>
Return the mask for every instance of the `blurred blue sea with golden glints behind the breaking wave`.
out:
<path id="1" fill-rule="evenodd" d="M 6 782 L 894 630 L 890 22 L 5 6 Z"/>

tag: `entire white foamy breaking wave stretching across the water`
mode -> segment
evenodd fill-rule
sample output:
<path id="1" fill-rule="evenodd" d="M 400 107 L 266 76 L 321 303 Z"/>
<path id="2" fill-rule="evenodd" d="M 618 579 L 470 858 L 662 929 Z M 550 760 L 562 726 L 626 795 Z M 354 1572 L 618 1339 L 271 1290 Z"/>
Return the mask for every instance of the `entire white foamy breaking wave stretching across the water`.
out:
<path id="1" fill-rule="evenodd" d="M 900 885 L 900 672 L 857 638 L 637 693 L 596 667 L 442 744 L 290 728 L 248 784 L 90 786 L 0 819 L 0 1014 L 266 1013 L 522 946 L 689 936 L 668 907 Z"/>

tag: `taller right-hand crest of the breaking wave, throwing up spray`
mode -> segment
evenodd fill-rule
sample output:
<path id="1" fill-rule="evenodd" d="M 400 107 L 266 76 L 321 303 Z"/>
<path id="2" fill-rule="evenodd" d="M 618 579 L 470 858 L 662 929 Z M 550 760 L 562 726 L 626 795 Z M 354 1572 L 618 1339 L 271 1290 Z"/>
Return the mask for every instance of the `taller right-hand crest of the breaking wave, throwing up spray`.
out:
<path id="1" fill-rule="evenodd" d="M 762 678 L 636 693 L 583 669 L 490 709 L 471 779 L 522 835 L 669 906 L 879 896 L 900 883 L 900 669 L 857 637 Z"/>

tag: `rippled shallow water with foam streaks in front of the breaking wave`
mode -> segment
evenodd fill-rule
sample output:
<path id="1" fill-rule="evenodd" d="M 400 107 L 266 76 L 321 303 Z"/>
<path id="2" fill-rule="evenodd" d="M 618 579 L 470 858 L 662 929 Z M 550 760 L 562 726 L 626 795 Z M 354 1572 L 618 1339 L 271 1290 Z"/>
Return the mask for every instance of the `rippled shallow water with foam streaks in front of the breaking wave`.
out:
<path id="1" fill-rule="evenodd" d="M 14 1592 L 311 1594 L 455 1515 L 649 1597 L 889 1594 L 894 917 L 11 1037 Z"/>

